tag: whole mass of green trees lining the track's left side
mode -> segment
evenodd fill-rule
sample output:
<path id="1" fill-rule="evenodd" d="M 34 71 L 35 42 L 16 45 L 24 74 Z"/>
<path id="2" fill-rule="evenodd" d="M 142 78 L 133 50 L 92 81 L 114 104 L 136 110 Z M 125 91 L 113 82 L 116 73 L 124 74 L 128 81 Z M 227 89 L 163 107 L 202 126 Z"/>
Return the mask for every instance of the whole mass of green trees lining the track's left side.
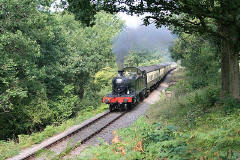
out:
<path id="1" fill-rule="evenodd" d="M 59 124 L 97 96 L 95 74 L 115 65 L 111 40 L 123 23 L 104 12 L 95 18 L 84 28 L 38 0 L 1 1 L 0 139 Z"/>

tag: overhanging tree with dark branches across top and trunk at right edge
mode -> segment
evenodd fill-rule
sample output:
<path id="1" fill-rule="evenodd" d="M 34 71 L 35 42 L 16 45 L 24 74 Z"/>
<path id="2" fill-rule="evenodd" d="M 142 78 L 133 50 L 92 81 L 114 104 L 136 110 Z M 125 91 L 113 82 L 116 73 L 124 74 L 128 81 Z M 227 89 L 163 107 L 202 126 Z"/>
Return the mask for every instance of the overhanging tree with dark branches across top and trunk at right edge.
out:
<path id="1" fill-rule="evenodd" d="M 178 32 L 217 37 L 221 41 L 222 93 L 239 98 L 239 0 L 93 0 L 90 4 L 110 12 L 147 14 L 145 24 L 173 26 Z"/>

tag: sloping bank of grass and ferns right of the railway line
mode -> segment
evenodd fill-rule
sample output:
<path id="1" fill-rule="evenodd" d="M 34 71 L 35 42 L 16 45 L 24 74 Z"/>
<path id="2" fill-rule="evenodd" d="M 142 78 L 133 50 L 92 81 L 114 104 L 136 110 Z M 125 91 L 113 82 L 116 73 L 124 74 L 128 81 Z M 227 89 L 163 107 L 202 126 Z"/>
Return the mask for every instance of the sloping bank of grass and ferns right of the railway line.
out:
<path id="1" fill-rule="evenodd" d="M 240 107 L 219 99 L 215 86 L 193 90 L 175 73 L 176 85 L 161 95 L 146 116 L 120 129 L 111 145 L 84 150 L 76 159 L 236 160 L 240 157 Z M 121 138 L 118 138 L 121 137 Z M 118 139 L 116 141 L 116 139 Z"/>

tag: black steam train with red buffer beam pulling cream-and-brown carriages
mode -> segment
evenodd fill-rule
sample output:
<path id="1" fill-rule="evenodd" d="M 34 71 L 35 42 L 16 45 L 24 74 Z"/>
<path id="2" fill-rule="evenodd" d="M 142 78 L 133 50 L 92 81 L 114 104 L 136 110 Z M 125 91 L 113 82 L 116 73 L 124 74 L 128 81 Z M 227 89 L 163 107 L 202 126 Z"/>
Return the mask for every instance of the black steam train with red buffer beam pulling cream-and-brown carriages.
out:
<path id="1" fill-rule="evenodd" d="M 125 67 L 112 80 L 112 93 L 103 97 L 109 110 L 127 111 L 157 88 L 163 78 L 176 68 L 168 62 L 144 67 Z"/>

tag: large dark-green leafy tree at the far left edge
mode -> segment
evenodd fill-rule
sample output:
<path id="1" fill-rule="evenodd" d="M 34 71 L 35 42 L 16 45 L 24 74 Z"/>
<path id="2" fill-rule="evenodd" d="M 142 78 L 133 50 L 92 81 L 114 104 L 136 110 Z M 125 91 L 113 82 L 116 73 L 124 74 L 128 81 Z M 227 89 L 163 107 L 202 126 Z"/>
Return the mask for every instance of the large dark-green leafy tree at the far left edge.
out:
<path id="1" fill-rule="evenodd" d="M 59 113 L 54 101 L 63 102 L 69 95 L 69 43 L 45 2 L 1 1 L 0 139 L 51 123 Z M 71 102 L 62 105 L 70 110 L 65 118 L 76 107 L 76 101 Z"/>

